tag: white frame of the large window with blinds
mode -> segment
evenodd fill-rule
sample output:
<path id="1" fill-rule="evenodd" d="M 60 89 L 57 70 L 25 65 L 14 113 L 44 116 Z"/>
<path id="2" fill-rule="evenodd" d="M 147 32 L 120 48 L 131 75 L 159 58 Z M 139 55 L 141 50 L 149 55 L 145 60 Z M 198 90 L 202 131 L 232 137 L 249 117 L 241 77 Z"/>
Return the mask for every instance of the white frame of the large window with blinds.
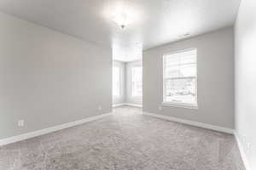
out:
<path id="1" fill-rule="evenodd" d="M 183 53 L 183 52 L 187 52 L 187 51 L 191 51 L 191 50 L 195 50 L 196 51 L 196 77 L 193 77 L 195 78 L 195 105 L 193 104 L 187 104 L 187 103 L 180 103 L 180 102 L 170 102 L 170 101 L 166 101 L 166 80 L 167 78 L 166 75 L 165 75 L 165 72 L 166 72 L 166 67 L 165 67 L 165 56 L 166 55 L 171 55 L 171 54 L 179 54 L 179 53 Z M 182 108 L 187 108 L 187 109 L 198 109 L 198 89 L 197 89 L 197 84 L 198 84 L 198 74 L 197 74 L 197 48 L 188 48 L 188 49 L 184 49 L 184 50 L 178 50 L 178 51 L 174 51 L 174 52 L 171 52 L 171 53 L 167 53 L 167 54 L 163 54 L 162 55 L 162 67 L 163 67 L 163 77 L 162 77 L 162 83 L 163 83 L 163 91 L 162 91 L 162 94 L 163 94 L 163 101 L 162 101 L 162 105 L 165 105 L 165 106 L 173 106 L 173 107 L 182 107 Z M 168 78 L 168 79 L 177 79 L 178 77 L 176 78 Z M 183 77 L 182 79 L 185 79 L 185 78 L 191 78 L 191 77 Z"/>

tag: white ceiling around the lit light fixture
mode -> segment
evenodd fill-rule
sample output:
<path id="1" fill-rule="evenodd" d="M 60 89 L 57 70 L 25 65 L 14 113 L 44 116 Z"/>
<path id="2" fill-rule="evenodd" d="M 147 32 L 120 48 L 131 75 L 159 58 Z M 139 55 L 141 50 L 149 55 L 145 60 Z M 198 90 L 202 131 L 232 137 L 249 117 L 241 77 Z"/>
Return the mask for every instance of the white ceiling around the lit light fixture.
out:
<path id="1" fill-rule="evenodd" d="M 0 9 L 41 26 L 104 47 L 131 61 L 148 49 L 232 26 L 241 0 L 0 0 Z M 131 23 L 124 31 L 111 19 L 119 4 Z"/>

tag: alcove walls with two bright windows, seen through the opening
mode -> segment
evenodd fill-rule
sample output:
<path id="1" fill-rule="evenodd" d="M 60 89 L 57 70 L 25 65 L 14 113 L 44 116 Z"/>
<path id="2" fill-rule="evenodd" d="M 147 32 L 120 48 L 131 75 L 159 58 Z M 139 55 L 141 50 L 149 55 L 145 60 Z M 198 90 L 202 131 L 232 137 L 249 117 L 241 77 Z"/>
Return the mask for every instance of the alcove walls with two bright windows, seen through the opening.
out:
<path id="1" fill-rule="evenodd" d="M 130 105 L 143 107 L 142 60 L 113 60 L 113 107 Z"/>

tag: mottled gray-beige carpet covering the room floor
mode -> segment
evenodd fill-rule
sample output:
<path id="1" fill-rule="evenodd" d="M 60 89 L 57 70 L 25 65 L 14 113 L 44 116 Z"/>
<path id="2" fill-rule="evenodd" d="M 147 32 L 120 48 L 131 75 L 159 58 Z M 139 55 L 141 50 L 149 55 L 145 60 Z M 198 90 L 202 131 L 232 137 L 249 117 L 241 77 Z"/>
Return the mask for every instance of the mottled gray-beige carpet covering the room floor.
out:
<path id="1" fill-rule="evenodd" d="M 120 107 L 0 148 L 1 170 L 244 170 L 234 137 Z"/>

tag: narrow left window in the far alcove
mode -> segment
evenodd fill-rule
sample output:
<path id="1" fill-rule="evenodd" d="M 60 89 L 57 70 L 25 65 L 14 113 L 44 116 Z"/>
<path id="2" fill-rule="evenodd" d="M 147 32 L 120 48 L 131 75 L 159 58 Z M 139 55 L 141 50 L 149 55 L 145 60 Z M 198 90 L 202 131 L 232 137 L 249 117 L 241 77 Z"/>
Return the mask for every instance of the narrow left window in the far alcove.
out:
<path id="1" fill-rule="evenodd" d="M 120 68 L 113 66 L 113 96 L 120 95 Z"/>

